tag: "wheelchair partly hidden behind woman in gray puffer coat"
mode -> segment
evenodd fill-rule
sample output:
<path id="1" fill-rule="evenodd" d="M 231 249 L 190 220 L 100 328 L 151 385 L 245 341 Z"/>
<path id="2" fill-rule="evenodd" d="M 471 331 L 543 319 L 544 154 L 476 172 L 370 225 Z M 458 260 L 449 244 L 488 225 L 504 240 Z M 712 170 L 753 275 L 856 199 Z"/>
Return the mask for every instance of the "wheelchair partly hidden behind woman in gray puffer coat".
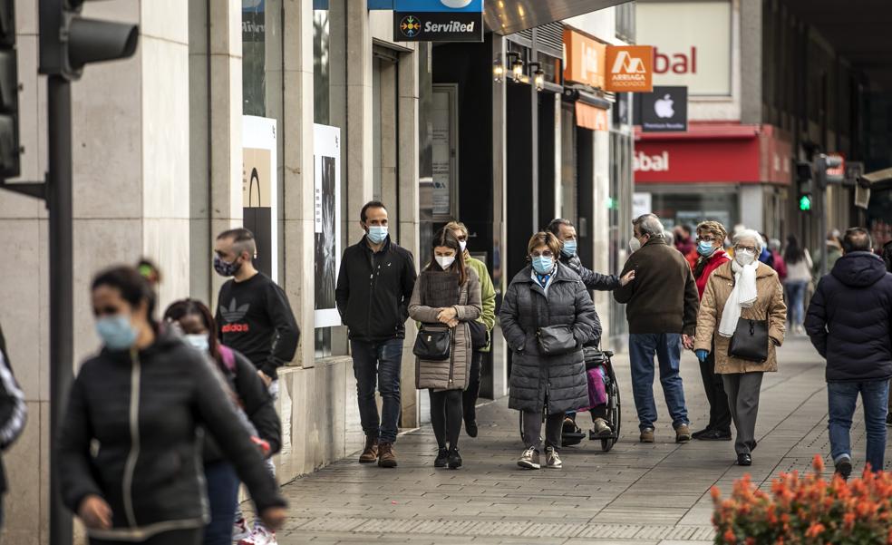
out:
<path id="1" fill-rule="evenodd" d="M 610 357 L 613 352 L 609 350 L 601 351 L 596 347 L 587 346 L 584 349 L 586 355 L 586 375 L 588 378 L 588 392 L 590 403 L 598 404 L 597 395 L 606 394 L 606 423 L 610 426 L 612 433 L 610 435 L 596 435 L 593 431 L 588 432 L 589 441 L 600 441 L 601 450 L 605 453 L 609 452 L 619 439 L 620 433 L 620 404 L 619 404 L 619 384 L 616 383 L 616 373 L 614 373 L 613 365 L 610 363 Z M 604 391 L 599 392 L 596 387 L 597 379 L 594 374 L 598 374 L 603 379 Z M 582 408 L 588 410 L 591 407 Z M 583 432 L 576 424 L 575 413 L 568 413 L 567 419 L 564 421 L 564 431 L 561 436 L 562 446 L 573 446 L 582 443 L 586 438 Z M 543 419 L 545 414 L 542 414 Z M 523 438 L 523 414 L 520 414 L 520 437 Z"/>

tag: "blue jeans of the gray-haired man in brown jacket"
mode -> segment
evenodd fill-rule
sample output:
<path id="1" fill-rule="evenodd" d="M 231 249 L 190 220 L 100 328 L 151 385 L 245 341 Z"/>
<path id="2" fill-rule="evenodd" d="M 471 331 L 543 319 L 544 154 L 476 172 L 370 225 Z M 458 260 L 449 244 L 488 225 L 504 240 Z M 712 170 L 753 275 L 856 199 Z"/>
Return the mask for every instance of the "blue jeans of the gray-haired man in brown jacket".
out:
<path id="1" fill-rule="evenodd" d="M 672 426 L 687 424 L 684 386 L 678 374 L 682 359 L 682 336 L 677 333 L 633 333 L 629 335 L 629 359 L 632 365 L 632 394 L 638 411 L 638 428 L 653 428 L 656 422 L 654 403 L 654 355 L 660 363 L 660 384 Z"/>

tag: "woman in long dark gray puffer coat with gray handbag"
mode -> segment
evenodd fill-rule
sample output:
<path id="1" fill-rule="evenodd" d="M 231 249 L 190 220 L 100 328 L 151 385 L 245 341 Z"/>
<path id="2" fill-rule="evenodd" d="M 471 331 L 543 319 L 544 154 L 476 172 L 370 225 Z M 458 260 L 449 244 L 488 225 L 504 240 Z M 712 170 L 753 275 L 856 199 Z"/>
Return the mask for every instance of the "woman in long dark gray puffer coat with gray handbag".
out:
<path id="1" fill-rule="evenodd" d="M 511 280 L 499 312 L 513 353 L 509 407 L 523 413 L 527 448 L 518 465 L 528 469 L 541 467 L 538 446 L 543 409 L 547 413 L 546 467 L 560 469 L 557 448 L 564 414 L 588 404 L 582 347 L 601 337 L 601 323 L 585 285 L 570 268 L 557 263 L 560 248 L 551 233 L 540 232 L 529 239 L 531 265 Z M 543 348 L 549 337 L 551 347 Z"/>

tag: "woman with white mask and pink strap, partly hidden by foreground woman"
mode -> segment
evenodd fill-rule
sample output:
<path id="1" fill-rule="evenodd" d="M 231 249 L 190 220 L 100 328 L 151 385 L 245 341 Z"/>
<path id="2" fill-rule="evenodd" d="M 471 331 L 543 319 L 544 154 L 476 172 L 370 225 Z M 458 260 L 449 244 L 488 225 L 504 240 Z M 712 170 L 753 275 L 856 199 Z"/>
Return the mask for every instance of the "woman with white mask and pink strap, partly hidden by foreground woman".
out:
<path id="1" fill-rule="evenodd" d="M 282 423 L 273 398 L 257 375 L 257 367 L 240 352 L 219 344 L 213 333 L 217 326 L 210 309 L 201 301 L 182 299 L 164 311 L 164 321 L 177 324 L 186 344 L 210 356 L 226 381 L 226 391 L 236 405 L 239 421 L 252 440 L 261 446 L 261 453 L 266 457 L 277 453 L 282 443 Z M 205 527 L 203 543 L 229 545 L 238 505 L 238 475 L 208 435 L 205 435 L 202 453 L 210 507 L 210 522 Z"/>

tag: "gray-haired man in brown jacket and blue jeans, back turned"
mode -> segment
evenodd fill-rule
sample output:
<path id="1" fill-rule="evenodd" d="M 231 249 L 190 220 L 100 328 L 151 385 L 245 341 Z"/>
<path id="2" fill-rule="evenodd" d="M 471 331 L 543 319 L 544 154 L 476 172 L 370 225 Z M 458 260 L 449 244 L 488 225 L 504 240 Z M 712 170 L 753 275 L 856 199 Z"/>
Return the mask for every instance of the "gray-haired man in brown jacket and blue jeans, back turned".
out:
<path id="1" fill-rule="evenodd" d="M 657 418 L 655 355 L 660 365 L 660 383 L 672 415 L 675 442 L 687 443 L 691 441 L 691 429 L 679 365 L 682 345 L 693 348 L 697 286 L 684 256 L 666 245 L 659 218 L 645 214 L 635 219 L 632 227 L 634 236 L 629 242 L 632 255 L 625 262 L 622 274 L 625 276 L 635 271 L 635 282 L 616 289 L 614 298 L 626 305 L 632 393 L 641 431 L 639 439 L 641 443 L 654 443 Z"/>

